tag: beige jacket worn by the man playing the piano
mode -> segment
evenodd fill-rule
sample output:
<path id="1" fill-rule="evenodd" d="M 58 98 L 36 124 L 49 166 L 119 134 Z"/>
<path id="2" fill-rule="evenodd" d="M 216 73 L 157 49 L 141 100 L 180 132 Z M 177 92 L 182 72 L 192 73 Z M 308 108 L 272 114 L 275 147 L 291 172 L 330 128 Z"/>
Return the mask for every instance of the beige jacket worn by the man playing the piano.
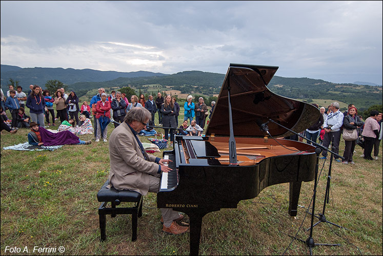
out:
<path id="1" fill-rule="evenodd" d="M 145 154 L 147 160 L 126 122 L 113 130 L 109 138 L 109 180 L 115 189 L 130 189 L 144 196 L 148 194 L 149 175 L 157 174 L 158 164 L 154 162 L 155 156 Z"/>

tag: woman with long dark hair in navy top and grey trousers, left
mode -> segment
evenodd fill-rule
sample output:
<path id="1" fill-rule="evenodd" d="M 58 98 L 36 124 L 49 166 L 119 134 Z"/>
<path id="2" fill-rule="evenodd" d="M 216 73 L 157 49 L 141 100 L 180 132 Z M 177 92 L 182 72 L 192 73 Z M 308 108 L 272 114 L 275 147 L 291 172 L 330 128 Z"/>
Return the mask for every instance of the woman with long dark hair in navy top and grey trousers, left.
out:
<path id="1" fill-rule="evenodd" d="M 36 122 L 40 127 L 45 128 L 44 123 L 44 110 L 45 110 L 45 100 L 39 86 L 33 86 L 32 93 L 27 98 L 27 103 L 25 104 L 29 108 L 29 115 L 31 116 L 31 121 Z"/>

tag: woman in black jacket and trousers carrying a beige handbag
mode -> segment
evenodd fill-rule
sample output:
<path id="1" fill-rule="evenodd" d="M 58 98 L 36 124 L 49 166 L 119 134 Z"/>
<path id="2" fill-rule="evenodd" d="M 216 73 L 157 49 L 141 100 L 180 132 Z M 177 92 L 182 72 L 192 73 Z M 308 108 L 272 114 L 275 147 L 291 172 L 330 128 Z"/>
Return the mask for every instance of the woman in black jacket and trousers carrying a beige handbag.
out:
<path id="1" fill-rule="evenodd" d="M 363 125 L 363 122 L 360 121 L 359 117 L 357 116 L 357 109 L 355 106 L 352 106 L 347 111 L 347 115 L 343 118 L 343 125 L 345 130 L 357 130 L 358 127 Z M 354 149 L 355 149 L 355 140 L 345 140 L 345 152 L 343 153 L 344 160 L 342 163 L 348 164 L 355 164 L 352 160 L 352 156 L 354 155 Z"/>

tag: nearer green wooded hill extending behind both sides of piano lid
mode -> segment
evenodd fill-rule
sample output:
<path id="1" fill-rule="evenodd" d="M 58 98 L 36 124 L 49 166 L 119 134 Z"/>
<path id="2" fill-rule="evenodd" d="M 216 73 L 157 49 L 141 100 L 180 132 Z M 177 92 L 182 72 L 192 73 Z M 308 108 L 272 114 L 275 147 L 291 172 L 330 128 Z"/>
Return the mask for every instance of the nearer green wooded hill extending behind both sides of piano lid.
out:
<path id="1" fill-rule="evenodd" d="M 201 94 L 213 96 L 219 93 L 225 79 L 224 74 L 201 71 L 184 71 L 162 77 L 117 78 L 105 82 L 74 83 L 72 90 L 131 87 L 142 93 L 151 94 L 157 91 L 178 90 L 181 94 Z M 156 86 L 152 86 L 155 84 Z M 366 110 L 374 104 L 381 104 L 382 87 L 362 86 L 353 83 L 331 83 L 320 79 L 290 78 L 274 76 L 268 88 L 284 97 L 303 99 L 307 102 L 318 102 L 324 99 L 325 104 L 334 101 L 344 102 L 345 105 L 354 103 L 359 110 Z"/>

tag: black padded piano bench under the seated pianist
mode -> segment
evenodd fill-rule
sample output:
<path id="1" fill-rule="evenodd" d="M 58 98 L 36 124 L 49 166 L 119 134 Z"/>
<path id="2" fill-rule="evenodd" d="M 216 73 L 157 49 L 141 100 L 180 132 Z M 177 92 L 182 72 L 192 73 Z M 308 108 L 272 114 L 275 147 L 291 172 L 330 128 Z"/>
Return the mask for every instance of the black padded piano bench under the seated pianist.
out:
<path id="1" fill-rule="evenodd" d="M 102 202 L 98 208 L 98 216 L 100 223 L 101 241 L 106 240 L 106 215 L 116 217 L 117 214 L 131 214 L 132 215 L 132 242 L 137 240 L 137 217 L 142 216 L 143 197 L 136 191 L 132 190 L 117 190 L 114 187 L 107 188 L 109 180 L 98 190 L 97 200 Z M 107 207 L 108 203 L 111 207 Z M 120 202 L 133 202 L 132 207 L 119 207 Z"/>

